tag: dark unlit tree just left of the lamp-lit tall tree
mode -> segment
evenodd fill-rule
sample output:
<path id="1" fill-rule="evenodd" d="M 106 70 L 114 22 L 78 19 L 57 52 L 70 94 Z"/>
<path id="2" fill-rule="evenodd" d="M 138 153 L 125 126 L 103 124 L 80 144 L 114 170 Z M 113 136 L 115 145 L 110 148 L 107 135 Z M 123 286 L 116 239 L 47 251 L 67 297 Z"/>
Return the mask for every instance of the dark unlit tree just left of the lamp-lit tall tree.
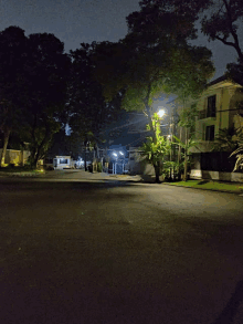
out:
<path id="1" fill-rule="evenodd" d="M 70 81 L 70 119 L 73 136 L 83 142 L 86 149 L 94 149 L 105 140 L 104 128 L 112 123 L 119 111 L 117 94 L 106 102 L 103 96 L 102 84 L 94 77 L 97 69 L 97 55 L 103 55 L 104 43 L 82 43 L 76 51 L 71 51 L 72 73 Z M 96 154 L 97 155 L 97 154 Z"/>

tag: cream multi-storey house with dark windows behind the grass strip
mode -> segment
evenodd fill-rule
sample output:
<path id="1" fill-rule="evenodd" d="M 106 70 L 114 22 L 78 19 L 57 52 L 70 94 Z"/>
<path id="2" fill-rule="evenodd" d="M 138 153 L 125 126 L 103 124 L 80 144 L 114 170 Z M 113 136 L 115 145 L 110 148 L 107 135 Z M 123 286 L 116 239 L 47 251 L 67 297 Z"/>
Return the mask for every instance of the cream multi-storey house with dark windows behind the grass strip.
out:
<path id="1" fill-rule="evenodd" d="M 236 103 L 243 101 L 242 86 L 221 76 L 209 83 L 197 102 L 199 116 L 196 117 L 194 135 L 199 144 L 190 149 L 192 154 L 191 178 L 209 178 L 243 181 L 243 174 L 234 173 L 235 158 L 232 151 L 214 151 L 215 136 L 220 129 L 243 126 L 243 111 Z"/>

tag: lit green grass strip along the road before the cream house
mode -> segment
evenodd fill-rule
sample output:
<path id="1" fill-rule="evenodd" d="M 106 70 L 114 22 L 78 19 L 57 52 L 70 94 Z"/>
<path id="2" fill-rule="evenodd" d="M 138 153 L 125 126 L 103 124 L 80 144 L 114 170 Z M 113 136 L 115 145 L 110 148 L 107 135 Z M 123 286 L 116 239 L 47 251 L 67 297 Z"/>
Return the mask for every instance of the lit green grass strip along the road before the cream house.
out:
<path id="1" fill-rule="evenodd" d="M 208 190 L 243 192 L 243 184 L 226 184 L 212 180 L 188 180 L 179 182 L 170 182 L 171 186 L 191 187 Z"/>

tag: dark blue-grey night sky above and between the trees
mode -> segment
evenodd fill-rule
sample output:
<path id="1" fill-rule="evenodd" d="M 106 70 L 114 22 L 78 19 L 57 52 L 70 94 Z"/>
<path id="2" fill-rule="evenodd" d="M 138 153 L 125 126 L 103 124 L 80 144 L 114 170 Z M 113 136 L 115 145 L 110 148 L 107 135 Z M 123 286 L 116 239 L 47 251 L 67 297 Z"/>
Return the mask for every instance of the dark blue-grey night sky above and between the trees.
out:
<path id="1" fill-rule="evenodd" d="M 80 43 L 117 41 L 127 33 L 126 17 L 139 9 L 139 0 L 0 0 L 0 30 L 18 25 L 25 34 L 54 33 L 65 44 L 65 51 Z M 243 28 L 241 30 L 243 39 Z M 196 44 L 209 46 L 216 66 L 215 77 L 224 73 L 236 52 L 219 41 L 200 36 Z M 243 45 L 243 44 L 242 44 Z"/>

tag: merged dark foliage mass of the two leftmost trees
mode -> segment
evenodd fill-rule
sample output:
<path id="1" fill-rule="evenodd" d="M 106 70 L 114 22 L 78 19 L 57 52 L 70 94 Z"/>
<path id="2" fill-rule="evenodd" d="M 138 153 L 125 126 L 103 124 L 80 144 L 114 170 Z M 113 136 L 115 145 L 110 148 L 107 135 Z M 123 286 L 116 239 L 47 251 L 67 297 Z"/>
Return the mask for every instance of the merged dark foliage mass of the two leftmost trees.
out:
<path id="1" fill-rule="evenodd" d="M 66 102 L 70 60 L 53 34 L 24 35 L 10 27 L 0 34 L 1 129 L 29 142 L 36 166 L 60 129 Z"/>

